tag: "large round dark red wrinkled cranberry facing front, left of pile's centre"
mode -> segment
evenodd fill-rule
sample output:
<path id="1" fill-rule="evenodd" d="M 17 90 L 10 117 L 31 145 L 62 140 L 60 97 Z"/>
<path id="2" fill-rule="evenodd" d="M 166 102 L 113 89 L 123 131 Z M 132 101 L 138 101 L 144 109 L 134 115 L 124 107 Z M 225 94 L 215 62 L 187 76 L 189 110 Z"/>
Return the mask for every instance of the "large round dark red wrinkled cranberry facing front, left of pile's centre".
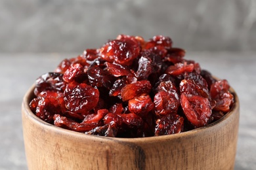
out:
<path id="1" fill-rule="evenodd" d="M 71 83 L 64 91 L 64 101 L 66 108 L 71 112 L 89 112 L 96 107 L 99 95 L 98 89 L 88 84 Z"/>

